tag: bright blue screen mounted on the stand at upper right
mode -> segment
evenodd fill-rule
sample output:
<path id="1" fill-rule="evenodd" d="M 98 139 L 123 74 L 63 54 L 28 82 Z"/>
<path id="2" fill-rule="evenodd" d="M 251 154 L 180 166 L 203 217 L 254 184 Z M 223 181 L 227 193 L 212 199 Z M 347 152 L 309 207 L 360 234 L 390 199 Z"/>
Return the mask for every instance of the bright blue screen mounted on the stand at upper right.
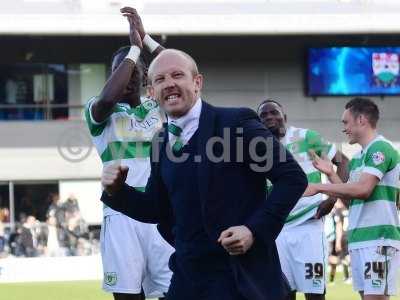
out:
<path id="1" fill-rule="evenodd" d="M 400 94 L 400 47 L 309 48 L 309 96 Z"/>

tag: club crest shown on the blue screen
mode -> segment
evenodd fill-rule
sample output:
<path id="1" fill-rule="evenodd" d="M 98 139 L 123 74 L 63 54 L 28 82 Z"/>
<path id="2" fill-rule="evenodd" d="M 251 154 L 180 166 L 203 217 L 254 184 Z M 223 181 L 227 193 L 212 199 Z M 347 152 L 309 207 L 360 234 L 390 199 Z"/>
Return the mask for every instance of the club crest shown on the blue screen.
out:
<path id="1" fill-rule="evenodd" d="M 372 53 L 374 84 L 378 87 L 394 87 L 399 84 L 399 55 L 396 53 Z"/>

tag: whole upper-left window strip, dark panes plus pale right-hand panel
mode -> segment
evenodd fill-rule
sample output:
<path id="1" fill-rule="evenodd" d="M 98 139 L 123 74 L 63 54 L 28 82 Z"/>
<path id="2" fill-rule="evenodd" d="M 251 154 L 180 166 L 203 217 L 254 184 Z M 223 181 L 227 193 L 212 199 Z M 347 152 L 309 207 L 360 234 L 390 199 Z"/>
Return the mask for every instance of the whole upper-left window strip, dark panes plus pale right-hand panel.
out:
<path id="1" fill-rule="evenodd" d="M 105 64 L 0 64 L 0 120 L 81 119 L 105 80 Z"/>

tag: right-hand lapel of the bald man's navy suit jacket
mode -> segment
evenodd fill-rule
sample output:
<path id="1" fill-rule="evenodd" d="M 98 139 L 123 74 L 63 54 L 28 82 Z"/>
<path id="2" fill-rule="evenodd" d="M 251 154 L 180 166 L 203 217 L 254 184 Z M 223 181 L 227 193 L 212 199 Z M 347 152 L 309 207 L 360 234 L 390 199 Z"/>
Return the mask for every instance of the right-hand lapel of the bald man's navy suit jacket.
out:
<path id="1" fill-rule="evenodd" d="M 215 132 L 215 111 L 207 102 L 202 102 L 199 128 L 198 128 L 198 153 L 201 157 L 201 162 L 197 168 L 198 185 L 200 192 L 200 200 L 204 205 L 208 199 L 208 186 L 211 179 L 210 162 L 207 159 L 207 142 L 214 136 Z"/>

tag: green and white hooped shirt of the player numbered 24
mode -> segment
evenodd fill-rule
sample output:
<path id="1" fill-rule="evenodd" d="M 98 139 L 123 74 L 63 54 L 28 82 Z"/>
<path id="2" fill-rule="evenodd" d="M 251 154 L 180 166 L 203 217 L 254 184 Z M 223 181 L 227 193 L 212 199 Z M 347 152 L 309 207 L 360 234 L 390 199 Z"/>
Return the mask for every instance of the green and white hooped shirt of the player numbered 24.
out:
<path id="1" fill-rule="evenodd" d="M 400 250 L 400 226 L 396 208 L 399 194 L 400 159 L 392 143 L 376 137 L 350 161 L 349 182 L 362 173 L 379 179 L 366 200 L 352 199 L 349 212 L 349 249 L 392 246 Z"/>

